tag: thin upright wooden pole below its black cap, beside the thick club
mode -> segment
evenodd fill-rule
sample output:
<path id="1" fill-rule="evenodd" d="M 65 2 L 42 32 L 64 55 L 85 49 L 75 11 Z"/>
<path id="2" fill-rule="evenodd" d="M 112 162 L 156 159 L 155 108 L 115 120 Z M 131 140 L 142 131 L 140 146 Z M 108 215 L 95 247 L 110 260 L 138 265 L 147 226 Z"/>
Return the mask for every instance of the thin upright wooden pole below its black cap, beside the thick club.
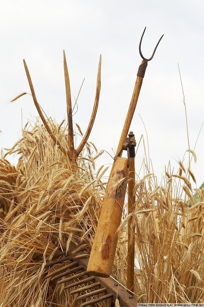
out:
<path id="1" fill-rule="evenodd" d="M 135 186 L 135 157 L 130 158 L 129 177 L 128 182 L 128 214 L 134 211 L 133 204 L 135 203 L 135 194 L 133 193 Z M 127 257 L 127 288 L 133 291 L 134 287 L 134 267 L 135 267 L 135 227 L 131 228 L 133 216 L 128 221 L 128 257 Z M 132 242 L 130 240 L 132 232 Z"/>

